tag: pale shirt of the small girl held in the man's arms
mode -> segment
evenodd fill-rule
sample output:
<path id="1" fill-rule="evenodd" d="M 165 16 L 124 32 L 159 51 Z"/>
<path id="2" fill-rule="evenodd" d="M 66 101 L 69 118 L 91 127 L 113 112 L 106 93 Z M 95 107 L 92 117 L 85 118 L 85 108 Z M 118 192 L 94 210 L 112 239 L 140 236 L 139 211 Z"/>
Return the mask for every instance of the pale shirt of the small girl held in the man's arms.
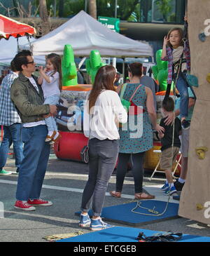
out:
<path id="1" fill-rule="evenodd" d="M 41 88 L 43 90 L 44 98 L 52 95 L 60 95 L 59 91 L 59 73 L 54 71 L 47 72 L 46 75 L 50 77 L 50 83 L 43 79 Z"/>

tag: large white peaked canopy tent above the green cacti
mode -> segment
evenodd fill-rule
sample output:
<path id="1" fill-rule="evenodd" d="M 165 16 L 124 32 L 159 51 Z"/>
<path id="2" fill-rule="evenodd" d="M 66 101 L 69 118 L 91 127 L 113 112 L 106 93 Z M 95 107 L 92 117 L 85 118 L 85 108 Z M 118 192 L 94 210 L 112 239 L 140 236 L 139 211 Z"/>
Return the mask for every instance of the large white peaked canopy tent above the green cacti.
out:
<path id="1" fill-rule="evenodd" d="M 102 57 L 153 56 L 147 43 L 113 32 L 84 11 L 31 44 L 34 55 L 62 55 L 64 45 L 71 44 L 75 56 L 89 56 L 91 50 L 99 50 Z"/>

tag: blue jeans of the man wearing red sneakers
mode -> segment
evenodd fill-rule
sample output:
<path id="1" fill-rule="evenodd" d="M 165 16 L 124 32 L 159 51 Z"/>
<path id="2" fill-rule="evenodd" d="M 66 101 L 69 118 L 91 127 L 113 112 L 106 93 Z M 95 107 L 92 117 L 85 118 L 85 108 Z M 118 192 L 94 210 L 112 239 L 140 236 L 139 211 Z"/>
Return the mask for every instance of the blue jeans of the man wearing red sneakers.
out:
<path id="1" fill-rule="evenodd" d="M 39 198 L 50 155 L 50 144 L 45 142 L 47 126 L 22 128 L 24 159 L 18 175 L 17 200 Z"/>

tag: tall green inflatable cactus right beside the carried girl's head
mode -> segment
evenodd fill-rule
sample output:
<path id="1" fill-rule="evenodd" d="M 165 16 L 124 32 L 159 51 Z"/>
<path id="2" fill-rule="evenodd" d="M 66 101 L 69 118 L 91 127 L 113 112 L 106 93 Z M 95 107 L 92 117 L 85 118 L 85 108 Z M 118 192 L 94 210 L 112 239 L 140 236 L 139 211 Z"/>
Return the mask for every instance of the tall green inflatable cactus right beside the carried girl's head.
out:
<path id="1" fill-rule="evenodd" d="M 73 48 L 70 44 L 64 46 L 64 55 L 62 58 L 62 83 L 63 86 L 76 86 L 78 84 Z"/>

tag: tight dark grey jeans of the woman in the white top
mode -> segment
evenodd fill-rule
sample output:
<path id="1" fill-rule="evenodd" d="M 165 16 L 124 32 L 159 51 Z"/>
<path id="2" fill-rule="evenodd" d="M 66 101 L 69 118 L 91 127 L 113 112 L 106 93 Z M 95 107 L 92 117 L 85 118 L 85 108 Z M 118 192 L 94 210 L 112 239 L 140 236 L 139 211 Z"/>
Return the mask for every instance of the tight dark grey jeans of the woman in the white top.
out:
<path id="1" fill-rule="evenodd" d="M 108 182 L 118 158 L 118 140 L 91 139 L 89 142 L 89 177 L 83 191 L 81 210 L 88 212 L 92 203 L 94 216 L 100 216 Z"/>

